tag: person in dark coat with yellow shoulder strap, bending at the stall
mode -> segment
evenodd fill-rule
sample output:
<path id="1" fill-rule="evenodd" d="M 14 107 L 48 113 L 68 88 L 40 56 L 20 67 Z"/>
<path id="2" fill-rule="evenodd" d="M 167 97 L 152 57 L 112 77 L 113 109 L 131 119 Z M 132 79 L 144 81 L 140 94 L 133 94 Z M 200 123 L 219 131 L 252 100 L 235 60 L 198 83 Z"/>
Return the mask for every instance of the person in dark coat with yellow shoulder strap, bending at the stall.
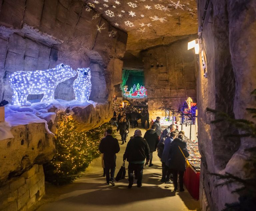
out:
<path id="1" fill-rule="evenodd" d="M 182 134 L 178 135 L 178 138 L 175 138 L 171 144 L 170 148 L 170 159 L 169 159 L 169 168 L 173 173 L 173 184 L 174 190 L 177 191 L 178 187 L 178 174 L 179 174 L 179 183 L 180 191 L 184 191 L 183 188 L 183 176 L 184 171 L 186 170 L 186 159 L 185 157 L 189 156 L 187 149 L 187 143 L 184 141 L 184 136 Z"/>

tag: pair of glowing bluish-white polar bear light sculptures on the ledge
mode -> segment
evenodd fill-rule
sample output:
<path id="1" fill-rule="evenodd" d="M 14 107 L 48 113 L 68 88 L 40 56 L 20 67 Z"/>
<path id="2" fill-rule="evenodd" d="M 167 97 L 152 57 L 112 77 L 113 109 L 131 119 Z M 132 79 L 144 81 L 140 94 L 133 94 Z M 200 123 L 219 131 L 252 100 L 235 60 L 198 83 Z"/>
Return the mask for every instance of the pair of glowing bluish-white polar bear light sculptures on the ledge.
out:
<path id="1" fill-rule="evenodd" d="M 30 106 L 27 101 L 29 94 L 44 94 L 41 102 L 54 100 L 54 91 L 58 84 L 75 77 L 73 83 L 75 98 L 78 101 L 86 102 L 91 94 L 91 72 L 90 68 L 78 68 L 73 70 L 63 63 L 55 68 L 36 71 L 18 71 L 10 76 L 11 88 L 14 92 L 12 104 L 20 106 Z"/>

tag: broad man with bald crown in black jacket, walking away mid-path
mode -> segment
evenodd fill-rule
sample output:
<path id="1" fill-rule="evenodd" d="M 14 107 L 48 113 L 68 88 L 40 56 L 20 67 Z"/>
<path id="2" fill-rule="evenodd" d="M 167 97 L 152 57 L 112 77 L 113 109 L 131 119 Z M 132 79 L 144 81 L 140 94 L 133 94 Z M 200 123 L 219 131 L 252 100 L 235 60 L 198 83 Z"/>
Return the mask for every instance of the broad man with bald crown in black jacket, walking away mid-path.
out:
<path id="1" fill-rule="evenodd" d="M 135 137 L 131 138 L 127 143 L 123 160 L 129 162 L 128 165 L 128 188 L 131 188 L 133 185 L 133 172 L 137 176 L 137 187 L 142 186 L 142 175 L 143 175 L 143 166 L 145 158 L 147 162 L 149 161 L 149 146 L 147 141 L 141 137 L 141 131 L 135 131 Z"/>

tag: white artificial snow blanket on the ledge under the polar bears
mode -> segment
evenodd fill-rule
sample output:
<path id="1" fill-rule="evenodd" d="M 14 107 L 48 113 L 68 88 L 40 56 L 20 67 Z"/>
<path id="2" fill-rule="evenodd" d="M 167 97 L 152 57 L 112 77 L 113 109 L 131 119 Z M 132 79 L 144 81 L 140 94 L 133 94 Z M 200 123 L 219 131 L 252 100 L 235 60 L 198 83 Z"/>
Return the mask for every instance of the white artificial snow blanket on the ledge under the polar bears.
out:
<path id="1" fill-rule="evenodd" d="M 53 134 L 48 129 L 48 122 L 54 122 L 56 112 L 49 112 L 51 108 L 57 108 L 60 112 L 64 112 L 67 108 L 72 109 L 75 107 L 86 108 L 89 105 L 96 107 L 97 103 L 93 101 L 80 102 L 76 100 L 51 100 L 48 102 L 32 103 L 31 106 L 5 106 L 5 121 L 0 122 L 0 140 L 13 138 L 11 128 L 17 125 L 26 125 L 31 123 L 45 123 L 45 129 L 48 133 Z"/>

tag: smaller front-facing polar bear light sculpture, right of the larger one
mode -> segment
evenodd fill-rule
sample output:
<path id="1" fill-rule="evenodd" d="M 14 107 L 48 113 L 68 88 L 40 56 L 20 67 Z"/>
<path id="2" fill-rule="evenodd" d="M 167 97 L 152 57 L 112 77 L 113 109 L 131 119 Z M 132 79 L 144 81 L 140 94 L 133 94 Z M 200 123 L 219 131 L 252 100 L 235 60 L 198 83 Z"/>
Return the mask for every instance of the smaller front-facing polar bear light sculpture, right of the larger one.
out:
<path id="1" fill-rule="evenodd" d="M 77 101 L 87 102 L 92 90 L 90 68 L 78 68 L 77 78 L 73 83 L 75 98 Z"/>

